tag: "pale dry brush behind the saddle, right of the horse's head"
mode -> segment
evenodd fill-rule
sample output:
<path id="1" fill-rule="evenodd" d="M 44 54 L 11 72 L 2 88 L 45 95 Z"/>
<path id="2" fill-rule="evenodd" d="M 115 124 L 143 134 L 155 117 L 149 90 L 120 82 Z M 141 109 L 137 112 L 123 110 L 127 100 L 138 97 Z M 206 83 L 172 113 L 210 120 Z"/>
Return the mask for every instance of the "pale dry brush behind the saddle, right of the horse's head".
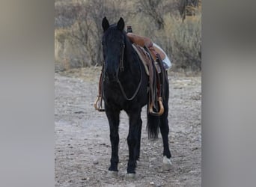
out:
<path id="1" fill-rule="evenodd" d="M 165 29 L 156 30 L 150 19 L 138 24 L 140 17 L 129 22 L 136 34 L 150 37 L 165 50 L 171 59 L 174 71 L 201 71 L 201 15 L 187 16 L 184 22 L 179 17 L 165 16 Z"/>

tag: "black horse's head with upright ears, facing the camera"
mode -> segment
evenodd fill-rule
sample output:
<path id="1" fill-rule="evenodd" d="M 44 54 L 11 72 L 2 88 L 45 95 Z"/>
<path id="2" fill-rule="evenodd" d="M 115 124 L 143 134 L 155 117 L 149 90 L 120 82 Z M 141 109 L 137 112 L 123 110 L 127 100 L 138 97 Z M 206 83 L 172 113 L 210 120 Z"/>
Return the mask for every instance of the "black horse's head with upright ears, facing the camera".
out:
<path id="1" fill-rule="evenodd" d="M 108 19 L 103 18 L 103 58 L 104 75 L 109 81 L 115 81 L 120 69 L 124 69 L 124 48 L 126 34 L 124 32 L 124 19 L 120 18 L 118 24 L 109 25 Z"/>

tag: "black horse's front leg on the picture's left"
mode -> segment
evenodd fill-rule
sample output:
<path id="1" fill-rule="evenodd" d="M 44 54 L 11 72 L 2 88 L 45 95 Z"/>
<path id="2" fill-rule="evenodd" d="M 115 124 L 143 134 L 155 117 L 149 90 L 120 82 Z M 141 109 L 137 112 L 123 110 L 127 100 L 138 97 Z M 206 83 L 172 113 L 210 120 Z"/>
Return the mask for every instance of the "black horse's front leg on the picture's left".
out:
<path id="1" fill-rule="evenodd" d="M 109 120 L 109 130 L 110 130 L 110 141 L 112 147 L 112 154 L 110 159 L 109 171 L 112 171 L 113 175 L 118 175 L 118 144 L 119 144 L 119 135 L 118 135 L 118 126 L 119 126 L 119 114 L 120 111 L 115 111 L 108 106 L 106 108 L 106 116 Z"/>

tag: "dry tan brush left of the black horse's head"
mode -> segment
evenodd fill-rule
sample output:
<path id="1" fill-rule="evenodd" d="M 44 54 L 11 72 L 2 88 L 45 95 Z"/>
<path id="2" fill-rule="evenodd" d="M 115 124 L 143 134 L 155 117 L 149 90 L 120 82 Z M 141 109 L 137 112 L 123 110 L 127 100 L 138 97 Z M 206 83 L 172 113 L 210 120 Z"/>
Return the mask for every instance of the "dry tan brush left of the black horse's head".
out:
<path id="1" fill-rule="evenodd" d="M 121 0 L 78 0 L 55 4 L 55 63 L 65 70 L 64 67 L 103 64 L 101 21 L 104 16 L 109 20 L 120 16 L 121 3 Z"/>

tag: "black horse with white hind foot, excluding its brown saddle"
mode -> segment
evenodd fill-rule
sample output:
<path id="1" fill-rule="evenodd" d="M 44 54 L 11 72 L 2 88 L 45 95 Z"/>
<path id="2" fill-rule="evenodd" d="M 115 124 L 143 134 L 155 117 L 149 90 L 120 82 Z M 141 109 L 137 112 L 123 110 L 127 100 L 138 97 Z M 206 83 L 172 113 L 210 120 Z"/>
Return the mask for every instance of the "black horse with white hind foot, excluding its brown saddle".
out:
<path id="1" fill-rule="evenodd" d="M 109 25 L 104 17 L 103 22 L 103 99 L 106 116 L 109 120 L 110 141 L 112 144 L 111 165 L 109 171 L 118 174 L 118 126 L 120 111 L 124 110 L 129 116 L 129 161 L 127 174 L 135 175 L 136 161 L 140 156 L 141 145 L 141 108 L 147 104 L 147 85 L 149 78 L 135 49 L 132 48 L 124 31 L 124 19 L 118 24 Z M 165 73 L 165 95 L 163 96 L 164 113 L 157 117 L 147 114 L 147 130 L 149 138 L 156 139 L 160 128 L 163 141 L 163 164 L 169 168 L 171 153 L 168 146 L 168 78 Z"/>

